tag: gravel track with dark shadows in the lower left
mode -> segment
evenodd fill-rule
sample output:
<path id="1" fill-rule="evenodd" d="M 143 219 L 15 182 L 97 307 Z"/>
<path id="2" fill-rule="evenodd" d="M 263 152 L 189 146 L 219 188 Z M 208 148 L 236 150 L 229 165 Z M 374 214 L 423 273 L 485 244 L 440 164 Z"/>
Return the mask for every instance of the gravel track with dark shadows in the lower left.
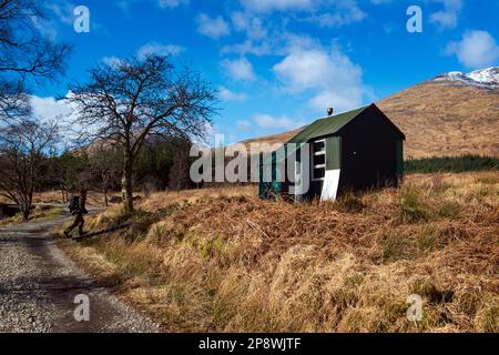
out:
<path id="1" fill-rule="evenodd" d="M 0 332 L 156 332 L 57 246 L 48 231 L 67 219 L 0 229 Z M 89 322 L 73 315 L 82 294 L 89 297 Z"/>

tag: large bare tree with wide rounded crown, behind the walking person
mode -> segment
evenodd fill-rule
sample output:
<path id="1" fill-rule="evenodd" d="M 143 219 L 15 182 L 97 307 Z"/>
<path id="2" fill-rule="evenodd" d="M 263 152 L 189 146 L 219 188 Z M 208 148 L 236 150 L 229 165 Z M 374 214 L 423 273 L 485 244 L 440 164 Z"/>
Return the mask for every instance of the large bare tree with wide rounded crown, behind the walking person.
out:
<path id="1" fill-rule="evenodd" d="M 150 135 L 201 136 L 214 113 L 214 90 L 189 69 L 177 70 L 166 57 L 147 55 L 90 72 L 86 84 L 70 88 L 83 140 L 114 144 L 123 153 L 122 194 L 133 211 L 133 163 Z"/>

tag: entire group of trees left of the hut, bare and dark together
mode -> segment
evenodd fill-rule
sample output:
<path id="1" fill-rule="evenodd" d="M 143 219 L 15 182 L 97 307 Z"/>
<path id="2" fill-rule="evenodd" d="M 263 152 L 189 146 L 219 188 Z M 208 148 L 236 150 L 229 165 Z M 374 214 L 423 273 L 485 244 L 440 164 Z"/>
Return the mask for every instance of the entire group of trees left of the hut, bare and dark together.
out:
<path id="1" fill-rule="evenodd" d="M 40 3 L 0 0 L 0 194 L 28 219 L 35 189 L 51 185 L 63 199 L 83 182 L 99 181 L 104 195 L 120 185 L 128 213 L 138 182 L 184 187 L 190 142 L 216 111 L 213 88 L 167 57 L 131 57 L 98 64 L 68 88 L 71 130 L 42 121 L 29 89 L 64 74 L 71 45 L 37 30 L 45 18 Z M 77 148 L 63 152 L 62 136 Z"/>

